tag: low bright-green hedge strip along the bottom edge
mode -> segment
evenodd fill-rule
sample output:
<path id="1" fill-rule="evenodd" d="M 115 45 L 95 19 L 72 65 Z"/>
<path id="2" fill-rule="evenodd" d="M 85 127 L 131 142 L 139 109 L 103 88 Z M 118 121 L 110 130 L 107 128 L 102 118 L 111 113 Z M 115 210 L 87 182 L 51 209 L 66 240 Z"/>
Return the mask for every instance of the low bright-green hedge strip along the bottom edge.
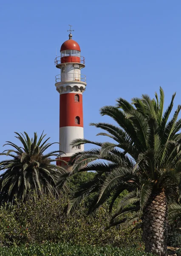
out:
<path id="1" fill-rule="evenodd" d="M 33 244 L 29 247 L 0 248 L 1 256 L 152 256 L 140 249 L 119 249 L 117 247 L 94 247 L 91 245 L 78 246 L 71 244 Z"/>

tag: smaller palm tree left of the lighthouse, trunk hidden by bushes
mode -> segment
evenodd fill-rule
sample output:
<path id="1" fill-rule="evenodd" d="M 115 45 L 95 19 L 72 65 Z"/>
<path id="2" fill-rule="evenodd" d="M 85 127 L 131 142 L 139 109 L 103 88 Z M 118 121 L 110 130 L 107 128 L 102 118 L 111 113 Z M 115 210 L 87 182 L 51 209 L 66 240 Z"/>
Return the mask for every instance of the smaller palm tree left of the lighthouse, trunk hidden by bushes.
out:
<path id="1" fill-rule="evenodd" d="M 59 151 L 51 151 L 44 154 L 54 143 L 43 141 L 45 135 L 41 134 L 38 139 L 37 133 L 30 139 L 28 134 L 15 136 L 22 146 L 15 145 L 7 141 L 5 145 L 10 145 L 12 149 L 5 150 L 0 155 L 6 155 L 11 159 L 0 162 L 0 203 L 15 200 L 25 201 L 30 191 L 35 190 L 39 195 L 42 192 L 53 195 L 56 191 L 55 184 L 60 174 L 66 172 L 62 167 L 54 165 L 55 160 L 51 157 L 59 157 Z"/>

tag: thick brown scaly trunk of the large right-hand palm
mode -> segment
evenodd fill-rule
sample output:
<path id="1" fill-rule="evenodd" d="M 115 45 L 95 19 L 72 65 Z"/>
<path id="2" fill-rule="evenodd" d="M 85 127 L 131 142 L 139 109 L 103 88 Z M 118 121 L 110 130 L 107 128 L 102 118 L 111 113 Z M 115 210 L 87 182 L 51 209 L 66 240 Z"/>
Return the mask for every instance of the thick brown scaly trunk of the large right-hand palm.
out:
<path id="1" fill-rule="evenodd" d="M 167 198 L 164 190 L 154 191 L 143 210 L 145 251 L 167 256 Z"/>

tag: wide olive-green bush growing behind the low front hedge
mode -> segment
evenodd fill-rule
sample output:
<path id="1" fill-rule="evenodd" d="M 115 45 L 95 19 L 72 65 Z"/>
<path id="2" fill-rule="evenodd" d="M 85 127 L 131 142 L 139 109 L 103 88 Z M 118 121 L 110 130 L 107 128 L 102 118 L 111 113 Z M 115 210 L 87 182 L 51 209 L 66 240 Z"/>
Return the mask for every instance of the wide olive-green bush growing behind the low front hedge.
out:
<path id="1" fill-rule="evenodd" d="M 142 245 L 141 230 L 133 231 L 109 225 L 110 214 L 105 204 L 92 216 L 86 216 L 84 203 L 74 214 L 65 215 L 68 198 L 41 198 L 31 195 L 28 201 L 14 206 L 0 208 L 1 246 L 31 243 L 70 242 L 72 244 L 100 245 L 111 244 L 120 247 Z M 3 220 L 3 221 L 2 221 Z M 21 228 L 20 228 L 21 227 Z M 9 232 L 11 230 L 11 232 Z M 8 235 L 8 232 L 11 235 Z"/>

